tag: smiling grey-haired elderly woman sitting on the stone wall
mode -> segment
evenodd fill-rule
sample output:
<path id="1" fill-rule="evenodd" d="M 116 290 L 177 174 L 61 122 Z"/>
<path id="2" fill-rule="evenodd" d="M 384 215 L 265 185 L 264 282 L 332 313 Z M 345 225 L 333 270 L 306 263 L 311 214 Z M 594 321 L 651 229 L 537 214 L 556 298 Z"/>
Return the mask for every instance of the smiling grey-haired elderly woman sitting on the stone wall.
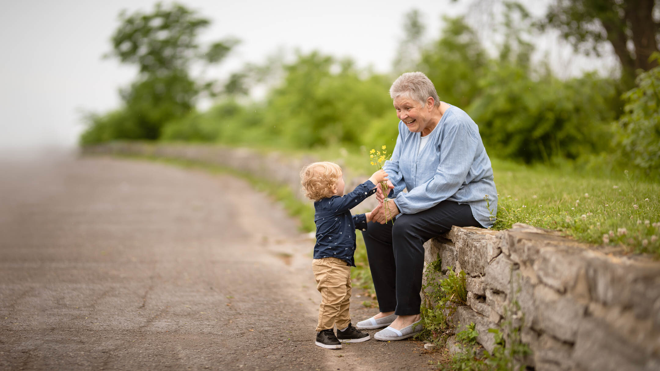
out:
<path id="1" fill-rule="evenodd" d="M 383 341 L 422 330 L 424 242 L 453 225 L 490 227 L 497 213 L 493 171 L 475 121 L 440 102 L 421 72 L 401 75 L 389 94 L 401 120 L 397 144 L 384 166 L 393 189 L 389 213 L 381 207 L 362 232 L 380 313 L 357 324 L 358 329 L 387 326 L 374 335 Z"/>

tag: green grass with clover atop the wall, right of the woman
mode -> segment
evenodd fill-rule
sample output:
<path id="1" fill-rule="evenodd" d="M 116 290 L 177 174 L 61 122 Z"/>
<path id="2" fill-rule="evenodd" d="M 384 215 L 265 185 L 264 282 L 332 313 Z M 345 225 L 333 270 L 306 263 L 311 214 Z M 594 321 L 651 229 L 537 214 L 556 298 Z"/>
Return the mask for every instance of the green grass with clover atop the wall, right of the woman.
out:
<path id="1" fill-rule="evenodd" d="M 660 258 L 660 186 L 599 178 L 570 169 L 521 166 L 493 160 L 499 194 L 494 229 L 523 222 L 561 230 L 576 240 L 620 245 Z"/>

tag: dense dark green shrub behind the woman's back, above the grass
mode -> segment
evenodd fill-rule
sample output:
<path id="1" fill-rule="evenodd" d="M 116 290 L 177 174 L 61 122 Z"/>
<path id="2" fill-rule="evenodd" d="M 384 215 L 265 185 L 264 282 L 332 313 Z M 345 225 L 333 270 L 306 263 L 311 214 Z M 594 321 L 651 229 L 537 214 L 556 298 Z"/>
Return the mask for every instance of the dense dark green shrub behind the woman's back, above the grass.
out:
<path id="1" fill-rule="evenodd" d="M 595 75 L 535 80 L 521 67 L 493 63 L 467 111 L 491 156 L 548 163 L 606 149 L 615 96 L 614 81 Z"/>

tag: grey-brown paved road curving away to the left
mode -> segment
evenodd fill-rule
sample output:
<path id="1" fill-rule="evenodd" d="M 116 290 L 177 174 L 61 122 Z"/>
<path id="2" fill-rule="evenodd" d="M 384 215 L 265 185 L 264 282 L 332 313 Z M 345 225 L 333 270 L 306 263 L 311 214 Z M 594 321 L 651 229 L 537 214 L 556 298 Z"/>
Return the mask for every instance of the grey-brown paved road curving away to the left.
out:
<path id="1" fill-rule="evenodd" d="M 412 341 L 314 346 L 313 243 L 229 176 L 0 161 L 0 370 L 432 369 Z"/>

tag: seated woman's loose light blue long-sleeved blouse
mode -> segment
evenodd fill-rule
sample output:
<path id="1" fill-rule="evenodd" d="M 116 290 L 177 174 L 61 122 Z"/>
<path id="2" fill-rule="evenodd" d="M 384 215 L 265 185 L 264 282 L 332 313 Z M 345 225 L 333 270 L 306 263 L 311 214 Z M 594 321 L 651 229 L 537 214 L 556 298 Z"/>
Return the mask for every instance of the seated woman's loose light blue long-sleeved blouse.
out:
<path id="1" fill-rule="evenodd" d="M 491 213 L 497 215 L 498 197 L 479 127 L 465 111 L 449 106 L 429 135 L 418 156 L 420 133 L 411 133 L 399 121 L 397 144 L 383 166 L 395 186 L 391 197 L 399 211 L 419 213 L 447 199 L 469 204 L 475 219 L 490 228 L 495 222 Z"/>

